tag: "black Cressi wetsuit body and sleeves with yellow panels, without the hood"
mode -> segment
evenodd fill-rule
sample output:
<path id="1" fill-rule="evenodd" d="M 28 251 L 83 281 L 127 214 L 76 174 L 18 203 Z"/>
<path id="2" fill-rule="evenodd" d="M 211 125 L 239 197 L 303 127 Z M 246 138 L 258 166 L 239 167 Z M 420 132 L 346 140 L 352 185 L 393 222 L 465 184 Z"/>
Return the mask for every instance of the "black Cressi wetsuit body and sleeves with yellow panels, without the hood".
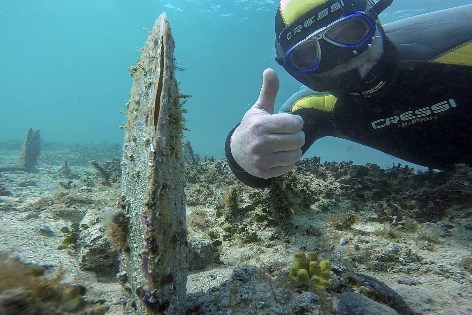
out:
<path id="1" fill-rule="evenodd" d="M 385 25 L 389 53 L 363 93 L 302 86 L 279 111 L 303 118 L 302 152 L 337 136 L 430 168 L 472 165 L 471 21 L 472 5 L 465 5 Z M 248 174 L 233 159 L 235 129 L 225 145 L 231 169 L 248 186 L 269 186 L 271 179 Z"/>

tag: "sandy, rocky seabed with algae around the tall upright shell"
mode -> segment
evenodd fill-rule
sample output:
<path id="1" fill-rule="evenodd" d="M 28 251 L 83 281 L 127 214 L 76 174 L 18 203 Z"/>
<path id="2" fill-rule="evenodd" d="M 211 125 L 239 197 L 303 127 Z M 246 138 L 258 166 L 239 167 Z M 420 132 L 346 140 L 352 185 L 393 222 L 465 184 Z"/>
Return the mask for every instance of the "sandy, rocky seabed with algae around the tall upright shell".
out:
<path id="1" fill-rule="evenodd" d="M 2 164 L 15 164 L 20 148 L 0 143 Z M 404 301 L 385 314 L 471 314 L 468 166 L 418 173 L 313 157 L 270 188 L 253 189 L 226 161 L 190 148 L 187 314 L 338 314 L 341 294 L 356 291 L 382 306 Z M 59 314 L 125 314 L 117 245 L 106 229 L 120 192 L 120 154 L 120 145 L 44 144 L 38 172 L 0 173 L 1 307 L 17 256 L 42 269 L 29 277 L 80 285 L 69 291 L 86 306 Z M 290 279 L 297 250 L 331 263 L 327 289 Z M 398 295 L 366 293 L 360 275 Z"/>

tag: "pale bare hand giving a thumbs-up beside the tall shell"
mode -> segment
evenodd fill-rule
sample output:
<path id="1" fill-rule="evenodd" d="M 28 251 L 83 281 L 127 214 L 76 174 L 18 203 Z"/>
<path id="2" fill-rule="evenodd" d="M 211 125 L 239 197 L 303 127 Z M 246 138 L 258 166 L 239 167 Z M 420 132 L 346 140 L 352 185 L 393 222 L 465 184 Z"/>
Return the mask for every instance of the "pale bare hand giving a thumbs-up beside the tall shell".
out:
<path id="1" fill-rule="evenodd" d="M 231 154 L 249 174 L 269 179 L 295 167 L 305 143 L 303 119 L 298 115 L 274 114 L 278 76 L 264 70 L 262 88 L 253 107 L 244 114 L 231 136 Z"/>

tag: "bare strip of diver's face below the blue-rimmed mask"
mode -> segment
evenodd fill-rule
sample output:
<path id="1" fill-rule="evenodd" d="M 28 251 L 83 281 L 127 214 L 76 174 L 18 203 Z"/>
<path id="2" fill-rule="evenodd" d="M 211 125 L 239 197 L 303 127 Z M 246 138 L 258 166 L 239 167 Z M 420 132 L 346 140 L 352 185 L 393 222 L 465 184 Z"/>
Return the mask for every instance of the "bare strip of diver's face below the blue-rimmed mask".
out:
<path id="1" fill-rule="evenodd" d="M 357 68 L 361 77 L 364 77 L 377 63 L 377 61 L 379 61 L 383 53 L 383 41 L 379 32 L 379 27 L 376 27 L 373 37 L 374 39 L 371 42 L 372 46 L 359 56 L 356 56 L 353 59 L 348 60 L 329 71 L 312 75 L 322 80 L 329 80 L 342 73 Z"/>

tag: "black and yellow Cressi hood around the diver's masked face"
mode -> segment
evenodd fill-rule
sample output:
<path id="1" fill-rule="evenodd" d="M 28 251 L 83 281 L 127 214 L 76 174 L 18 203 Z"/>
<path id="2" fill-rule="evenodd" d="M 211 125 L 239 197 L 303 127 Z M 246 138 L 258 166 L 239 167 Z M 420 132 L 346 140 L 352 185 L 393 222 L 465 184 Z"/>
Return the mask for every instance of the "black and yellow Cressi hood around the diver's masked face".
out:
<path id="1" fill-rule="evenodd" d="M 297 81 L 315 91 L 330 91 L 338 94 L 371 94 L 372 91 L 379 91 L 379 87 L 387 84 L 385 81 L 388 78 L 387 76 L 392 76 L 396 72 L 395 48 L 388 40 L 378 20 L 378 14 L 391 3 L 392 0 L 313 0 L 306 2 L 282 0 L 275 19 L 277 35 L 276 60 Z M 320 76 L 320 74 L 323 74 L 323 72 L 320 72 L 321 67 L 306 72 L 297 71 L 294 67 L 290 67 L 286 60 L 287 58 L 284 58 L 287 57 L 286 53 L 288 53 L 287 51 L 289 51 L 290 47 L 298 41 L 303 41 L 303 38 L 309 36 L 308 34 L 313 32 L 314 29 L 326 26 L 340 17 L 345 17 L 359 11 L 370 12 L 369 14 L 375 21 L 377 37 L 379 37 L 379 39 L 375 40 L 381 40 L 383 44 L 383 51 L 380 52 L 381 55 L 377 57 L 378 60 L 367 74 L 361 77 L 358 68 L 353 68 L 339 75 Z M 328 62 L 329 65 L 325 67 L 324 72 L 354 60 L 353 58 L 356 58 L 354 55 L 359 54 L 357 57 L 362 56 L 372 46 L 372 42 L 367 41 L 362 45 L 362 47 L 354 50 L 352 48 L 337 47 L 337 51 L 334 51 L 336 53 L 330 51 L 331 57 L 328 57 L 326 60 L 329 61 L 330 58 L 336 58 L 337 56 L 343 63 L 336 65 L 336 62 Z M 323 70 L 321 69 L 321 71 Z"/>

